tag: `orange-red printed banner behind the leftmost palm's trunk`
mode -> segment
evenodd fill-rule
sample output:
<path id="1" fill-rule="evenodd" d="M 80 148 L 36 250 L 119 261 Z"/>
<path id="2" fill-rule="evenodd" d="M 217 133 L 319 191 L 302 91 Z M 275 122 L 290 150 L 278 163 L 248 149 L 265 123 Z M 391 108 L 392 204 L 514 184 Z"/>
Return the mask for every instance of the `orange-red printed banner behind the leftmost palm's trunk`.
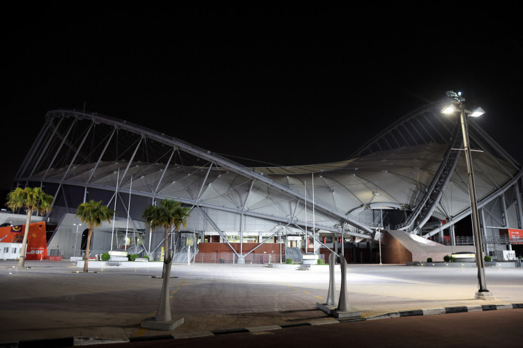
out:
<path id="1" fill-rule="evenodd" d="M 25 225 L 0 228 L 0 242 L 22 243 L 24 241 Z M 27 234 L 26 260 L 43 260 L 47 258 L 47 237 L 45 222 L 29 224 Z"/>

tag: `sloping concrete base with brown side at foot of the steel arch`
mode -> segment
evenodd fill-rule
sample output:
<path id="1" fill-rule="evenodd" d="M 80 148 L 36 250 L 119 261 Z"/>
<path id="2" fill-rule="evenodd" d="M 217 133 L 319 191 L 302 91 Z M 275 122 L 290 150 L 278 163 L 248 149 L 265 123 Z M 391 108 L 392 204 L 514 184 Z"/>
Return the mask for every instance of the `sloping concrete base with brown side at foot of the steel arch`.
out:
<path id="1" fill-rule="evenodd" d="M 401 230 L 388 230 L 385 232 L 381 244 L 381 259 L 384 263 L 407 263 L 415 261 L 426 262 L 427 258 L 432 261 L 443 261 L 445 255 L 458 253 L 460 251 L 474 251 L 473 246 L 446 246 L 429 239 L 413 235 Z"/>

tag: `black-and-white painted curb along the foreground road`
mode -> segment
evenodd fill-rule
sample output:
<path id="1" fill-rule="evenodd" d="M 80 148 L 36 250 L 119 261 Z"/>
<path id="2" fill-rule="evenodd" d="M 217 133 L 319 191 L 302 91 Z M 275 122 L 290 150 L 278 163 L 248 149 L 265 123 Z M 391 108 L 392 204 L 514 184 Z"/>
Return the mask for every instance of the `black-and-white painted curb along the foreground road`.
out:
<path id="1" fill-rule="evenodd" d="M 188 333 L 185 335 L 155 335 L 146 337 L 131 337 L 128 340 L 107 340 L 104 338 L 84 338 L 84 337 L 66 337 L 66 338 L 52 338 L 45 340 L 30 340 L 30 341 L 19 341 L 12 343 L 4 343 L 0 347 L 6 348 L 24 348 L 24 347 L 71 347 L 71 346 L 82 346 L 82 345 L 98 345 L 108 343 L 126 343 L 126 342 L 144 342 L 144 341 L 156 341 L 156 340 L 175 340 L 179 338 L 195 338 L 202 336 L 211 335 L 227 335 L 229 333 L 253 333 L 256 331 L 270 331 L 278 329 L 290 329 L 294 327 L 322 325 L 322 324 L 336 324 L 341 322 L 362 322 L 365 320 L 377 320 L 377 319 L 388 319 L 395 317 L 415 317 L 422 315 L 440 315 L 440 314 L 452 314 L 452 313 L 467 313 L 467 312 L 479 312 L 488 310 L 505 310 L 505 309 L 523 309 L 523 303 L 507 303 L 499 305 L 477 305 L 477 306 L 457 306 L 457 307 L 441 307 L 441 308 L 427 308 L 419 310 L 404 310 L 400 312 L 391 312 L 374 317 L 356 317 L 356 318 L 332 318 L 322 319 L 315 322 L 301 322 L 293 324 L 281 324 L 281 325 L 270 325 L 270 326 L 252 326 L 247 328 L 237 329 L 225 329 L 225 330 L 213 330 L 204 331 L 200 333 Z M 89 342 L 89 343 L 88 343 Z"/>

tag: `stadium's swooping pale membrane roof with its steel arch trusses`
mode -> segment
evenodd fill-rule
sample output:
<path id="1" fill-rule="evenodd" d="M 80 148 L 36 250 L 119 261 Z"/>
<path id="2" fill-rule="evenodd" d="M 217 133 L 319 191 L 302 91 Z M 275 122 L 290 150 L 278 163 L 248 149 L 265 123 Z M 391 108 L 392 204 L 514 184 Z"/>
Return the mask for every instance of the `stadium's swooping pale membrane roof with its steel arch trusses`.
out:
<path id="1" fill-rule="evenodd" d="M 94 191 L 104 192 L 107 205 L 132 191 L 145 198 L 142 205 L 172 198 L 301 227 L 314 221 L 317 229 L 368 237 L 384 226 L 376 209 L 388 211 L 389 228 L 414 221 L 407 229 L 423 212 L 446 219 L 467 211 L 464 156 L 451 156 L 460 151 L 455 150 L 460 148 L 457 125 L 439 109 L 440 104 L 431 104 L 410 113 L 346 161 L 264 168 L 242 166 L 123 120 L 50 111 L 15 180 L 52 187 L 50 193 L 68 208 Z M 478 197 L 496 196 L 517 180 L 520 166 L 476 124 L 470 129 L 472 148 L 483 151 L 473 156 Z M 455 161 L 447 165 L 452 171 L 444 174 L 449 161 Z M 127 210 L 123 200 L 120 204 Z"/>

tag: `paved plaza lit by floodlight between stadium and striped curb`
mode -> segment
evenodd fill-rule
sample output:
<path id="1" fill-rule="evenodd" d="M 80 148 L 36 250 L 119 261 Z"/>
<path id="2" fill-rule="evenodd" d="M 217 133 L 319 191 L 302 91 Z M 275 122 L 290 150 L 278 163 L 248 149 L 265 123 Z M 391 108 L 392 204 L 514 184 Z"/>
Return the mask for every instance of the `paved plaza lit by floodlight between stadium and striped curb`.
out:
<path id="1" fill-rule="evenodd" d="M 263 265 L 173 264 L 169 293 L 173 331 L 140 328 L 155 315 L 162 289 L 161 267 L 92 268 L 88 274 L 68 261 L 0 261 L 0 345 L 75 338 L 75 345 L 128 342 L 148 336 L 191 338 L 239 328 L 270 329 L 303 323 L 328 324 L 333 317 L 316 308 L 328 294 L 328 266 L 311 270 Z M 475 267 L 416 267 L 349 264 L 351 309 L 364 319 L 438 308 L 513 308 L 523 303 L 523 269 L 487 267 L 492 301 L 474 299 Z M 335 271 L 337 294 L 340 268 Z M 480 310 L 480 309 L 479 309 Z M 521 312 L 521 309 L 512 309 Z"/>

